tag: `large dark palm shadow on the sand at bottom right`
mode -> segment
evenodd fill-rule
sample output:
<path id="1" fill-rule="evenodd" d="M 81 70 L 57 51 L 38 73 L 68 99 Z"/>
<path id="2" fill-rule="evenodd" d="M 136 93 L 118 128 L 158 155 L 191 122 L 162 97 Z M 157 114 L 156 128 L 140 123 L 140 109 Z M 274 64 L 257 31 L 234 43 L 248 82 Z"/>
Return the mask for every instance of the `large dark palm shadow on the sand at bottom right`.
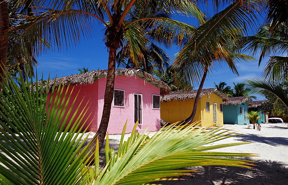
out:
<path id="1" fill-rule="evenodd" d="M 247 158 L 246 158 L 247 159 Z M 253 159 L 250 159 L 253 160 Z M 288 169 L 285 165 L 276 161 L 256 161 L 255 169 L 244 167 L 226 167 L 226 166 L 206 166 L 190 167 L 185 169 L 196 169 L 190 176 L 181 176 L 183 180 L 162 181 L 156 184 L 174 184 L 174 185 L 284 185 L 288 184 Z M 179 177 L 178 177 L 179 178 Z"/>

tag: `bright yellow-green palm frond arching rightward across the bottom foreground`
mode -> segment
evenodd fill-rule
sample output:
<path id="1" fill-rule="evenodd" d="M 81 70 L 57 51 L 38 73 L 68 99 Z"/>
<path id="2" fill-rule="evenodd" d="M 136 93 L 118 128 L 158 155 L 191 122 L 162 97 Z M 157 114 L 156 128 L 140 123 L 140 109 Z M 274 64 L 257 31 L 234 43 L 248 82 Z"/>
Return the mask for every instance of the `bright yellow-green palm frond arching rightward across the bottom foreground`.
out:
<path id="1" fill-rule="evenodd" d="M 135 133 L 135 124 L 131 136 L 123 142 L 125 128 L 118 153 L 109 149 L 106 142 L 105 169 L 99 172 L 93 184 L 144 184 L 167 179 L 171 176 L 190 174 L 193 170 L 173 170 L 181 167 L 230 165 L 251 167 L 251 161 L 224 157 L 255 156 L 244 153 L 210 152 L 207 150 L 236 146 L 245 143 L 204 146 L 235 134 L 214 128 L 196 129 L 197 125 L 185 125 L 174 128 L 162 128 L 151 138 L 146 134 Z M 108 140 L 108 135 L 107 135 Z"/>

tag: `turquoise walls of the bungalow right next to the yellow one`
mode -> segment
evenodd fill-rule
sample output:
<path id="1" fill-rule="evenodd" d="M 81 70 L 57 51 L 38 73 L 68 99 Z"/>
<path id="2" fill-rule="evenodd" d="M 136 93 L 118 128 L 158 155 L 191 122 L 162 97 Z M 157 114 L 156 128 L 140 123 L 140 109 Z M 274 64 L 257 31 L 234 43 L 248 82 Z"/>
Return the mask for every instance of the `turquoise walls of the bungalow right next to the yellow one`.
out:
<path id="1" fill-rule="evenodd" d="M 242 104 L 223 105 L 223 124 L 249 125 L 249 120 L 247 118 L 244 119 L 249 105 L 246 102 Z M 242 114 L 240 114 L 240 107 L 242 109 Z M 245 112 L 243 108 L 245 109 Z"/>

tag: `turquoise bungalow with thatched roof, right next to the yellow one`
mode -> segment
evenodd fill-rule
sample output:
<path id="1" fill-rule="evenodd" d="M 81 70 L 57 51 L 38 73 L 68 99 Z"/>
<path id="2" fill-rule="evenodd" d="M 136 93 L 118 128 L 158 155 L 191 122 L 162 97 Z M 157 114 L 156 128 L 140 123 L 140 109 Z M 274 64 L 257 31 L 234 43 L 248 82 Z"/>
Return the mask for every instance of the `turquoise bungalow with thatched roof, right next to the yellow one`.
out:
<path id="1" fill-rule="evenodd" d="M 249 105 L 252 105 L 252 101 L 248 97 L 228 98 L 223 102 L 223 123 L 249 125 L 249 120 L 245 118 Z"/>

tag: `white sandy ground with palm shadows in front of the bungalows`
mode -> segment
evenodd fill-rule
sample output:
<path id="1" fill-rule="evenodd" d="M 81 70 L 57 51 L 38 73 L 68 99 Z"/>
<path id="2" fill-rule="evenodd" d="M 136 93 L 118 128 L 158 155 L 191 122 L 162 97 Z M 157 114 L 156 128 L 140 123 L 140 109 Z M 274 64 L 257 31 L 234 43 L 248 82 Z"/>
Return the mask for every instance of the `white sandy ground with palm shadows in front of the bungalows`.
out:
<path id="1" fill-rule="evenodd" d="M 288 127 L 287 124 L 261 124 L 261 131 L 248 129 L 247 125 L 224 125 L 241 135 L 218 141 L 220 143 L 251 142 L 235 147 L 219 149 L 222 152 L 255 153 L 259 157 L 243 158 L 256 161 L 255 169 L 242 167 L 193 167 L 198 170 L 183 180 L 161 182 L 161 184 L 281 184 L 288 185 Z M 153 132 L 151 133 L 153 134 Z M 129 134 L 126 134 L 128 137 Z M 109 145 L 117 148 L 121 135 L 109 135 Z M 104 155 L 103 151 L 101 155 Z M 191 169 L 191 168 L 189 168 Z M 158 183 L 159 184 L 159 183 Z"/>

